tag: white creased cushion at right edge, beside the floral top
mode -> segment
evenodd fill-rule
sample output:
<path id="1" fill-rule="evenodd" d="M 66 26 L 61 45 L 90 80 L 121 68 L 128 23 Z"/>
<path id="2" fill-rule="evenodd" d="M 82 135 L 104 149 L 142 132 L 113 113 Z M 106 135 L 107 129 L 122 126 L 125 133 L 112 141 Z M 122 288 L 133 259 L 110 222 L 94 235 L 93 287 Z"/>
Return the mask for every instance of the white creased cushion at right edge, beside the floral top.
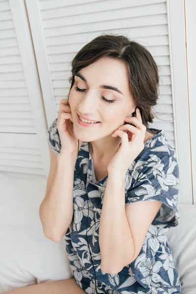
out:
<path id="1" fill-rule="evenodd" d="M 179 205 L 180 222 L 168 231 L 168 244 L 182 284 L 181 294 L 196 294 L 196 205 Z"/>

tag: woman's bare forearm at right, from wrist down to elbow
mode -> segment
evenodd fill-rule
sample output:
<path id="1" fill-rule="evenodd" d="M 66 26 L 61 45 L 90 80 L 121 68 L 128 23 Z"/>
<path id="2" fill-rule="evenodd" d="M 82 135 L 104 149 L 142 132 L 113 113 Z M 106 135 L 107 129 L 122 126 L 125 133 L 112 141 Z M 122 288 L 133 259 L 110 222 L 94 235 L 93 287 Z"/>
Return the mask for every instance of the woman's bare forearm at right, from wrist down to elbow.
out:
<path id="1" fill-rule="evenodd" d="M 99 222 L 101 270 L 116 273 L 132 259 L 134 243 L 125 213 L 125 176 L 108 174 Z"/>

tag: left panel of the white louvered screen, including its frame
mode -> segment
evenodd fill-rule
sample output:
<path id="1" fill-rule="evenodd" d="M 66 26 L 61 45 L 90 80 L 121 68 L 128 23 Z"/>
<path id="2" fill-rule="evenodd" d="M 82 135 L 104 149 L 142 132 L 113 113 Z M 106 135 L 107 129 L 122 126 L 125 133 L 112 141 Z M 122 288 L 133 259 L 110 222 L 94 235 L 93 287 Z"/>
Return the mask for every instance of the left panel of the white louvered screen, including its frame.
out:
<path id="1" fill-rule="evenodd" d="M 15 4 L 0 1 L 0 172 L 45 177 L 44 107 L 25 6 Z"/>

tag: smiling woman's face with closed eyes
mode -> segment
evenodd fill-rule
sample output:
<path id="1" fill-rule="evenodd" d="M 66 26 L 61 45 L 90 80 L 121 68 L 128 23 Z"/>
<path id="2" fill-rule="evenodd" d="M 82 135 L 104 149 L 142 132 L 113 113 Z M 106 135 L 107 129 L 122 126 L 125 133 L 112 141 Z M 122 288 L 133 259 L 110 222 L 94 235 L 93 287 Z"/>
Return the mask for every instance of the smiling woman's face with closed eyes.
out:
<path id="1" fill-rule="evenodd" d="M 69 104 L 73 117 L 73 131 L 79 140 L 91 142 L 111 135 L 124 118 L 131 116 L 135 103 L 129 91 L 126 66 L 123 61 L 104 57 L 83 68 L 74 76 Z M 101 85 L 112 86 L 117 91 L 104 89 Z M 84 90 L 76 91 L 77 88 Z M 108 102 L 104 100 L 109 100 Z M 110 101 L 114 102 L 110 102 Z M 83 126 L 78 123 L 78 115 L 100 123 Z"/>

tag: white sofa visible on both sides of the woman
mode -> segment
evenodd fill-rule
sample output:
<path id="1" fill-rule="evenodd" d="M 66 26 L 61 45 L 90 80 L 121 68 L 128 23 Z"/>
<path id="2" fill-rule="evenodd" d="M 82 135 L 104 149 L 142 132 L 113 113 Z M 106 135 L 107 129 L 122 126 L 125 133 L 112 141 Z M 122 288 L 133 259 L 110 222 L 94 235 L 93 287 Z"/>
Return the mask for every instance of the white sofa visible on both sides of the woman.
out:
<path id="1" fill-rule="evenodd" d="M 46 180 L 0 174 L 0 293 L 72 278 L 65 240 L 44 236 L 39 207 Z M 196 205 L 179 207 L 180 224 L 168 242 L 179 272 L 182 294 L 196 294 Z"/>

